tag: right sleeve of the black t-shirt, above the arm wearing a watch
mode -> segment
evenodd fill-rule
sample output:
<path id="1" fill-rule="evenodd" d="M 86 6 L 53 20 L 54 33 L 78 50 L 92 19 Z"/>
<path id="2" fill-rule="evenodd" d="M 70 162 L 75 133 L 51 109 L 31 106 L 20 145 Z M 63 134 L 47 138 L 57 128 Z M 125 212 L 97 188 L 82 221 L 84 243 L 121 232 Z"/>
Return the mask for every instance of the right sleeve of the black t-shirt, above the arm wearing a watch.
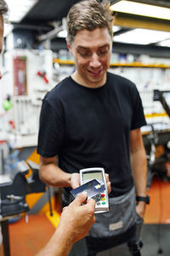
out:
<path id="1" fill-rule="evenodd" d="M 141 98 L 139 96 L 139 91 L 137 90 L 135 85 L 133 86 L 132 102 L 133 118 L 131 123 L 131 130 L 134 130 L 146 125 L 146 121 L 144 118 L 144 108 L 142 105 Z"/>

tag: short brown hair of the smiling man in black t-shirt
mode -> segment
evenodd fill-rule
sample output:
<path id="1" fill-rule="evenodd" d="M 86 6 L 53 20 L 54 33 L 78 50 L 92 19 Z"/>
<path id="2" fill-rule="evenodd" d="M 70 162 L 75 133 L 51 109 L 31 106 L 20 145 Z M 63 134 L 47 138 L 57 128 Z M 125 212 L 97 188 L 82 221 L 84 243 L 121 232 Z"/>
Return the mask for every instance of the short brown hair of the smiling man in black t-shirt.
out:
<path id="1" fill-rule="evenodd" d="M 108 4 L 85 0 L 74 4 L 67 15 L 67 39 L 71 44 L 77 32 L 107 27 L 112 37 L 113 16 Z"/>

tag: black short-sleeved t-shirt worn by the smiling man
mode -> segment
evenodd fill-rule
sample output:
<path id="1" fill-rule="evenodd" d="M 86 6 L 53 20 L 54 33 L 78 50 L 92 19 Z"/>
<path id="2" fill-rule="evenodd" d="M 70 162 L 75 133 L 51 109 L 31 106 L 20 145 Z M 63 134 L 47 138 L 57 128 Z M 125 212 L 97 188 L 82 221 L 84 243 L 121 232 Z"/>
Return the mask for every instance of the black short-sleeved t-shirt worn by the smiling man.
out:
<path id="1" fill-rule="evenodd" d="M 106 83 L 92 89 L 71 77 L 48 92 L 42 102 L 37 153 L 58 155 L 65 172 L 104 167 L 111 196 L 133 187 L 129 160 L 129 131 L 145 125 L 136 86 L 107 73 Z"/>

